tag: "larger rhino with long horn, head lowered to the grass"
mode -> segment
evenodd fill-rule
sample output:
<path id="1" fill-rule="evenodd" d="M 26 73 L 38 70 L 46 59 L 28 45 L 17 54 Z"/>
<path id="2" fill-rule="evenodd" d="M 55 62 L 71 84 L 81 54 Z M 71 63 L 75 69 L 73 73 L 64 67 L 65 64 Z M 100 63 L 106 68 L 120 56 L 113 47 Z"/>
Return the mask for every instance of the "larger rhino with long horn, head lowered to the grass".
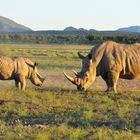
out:
<path id="1" fill-rule="evenodd" d="M 106 41 L 91 49 L 90 53 L 82 58 L 82 70 L 72 78 L 65 72 L 65 77 L 77 86 L 78 90 L 86 90 L 101 76 L 106 84 L 107 91 L 117 92 L 119 78 L 140 79 L 140 45 L 125 45 L 113 41 Z"/>

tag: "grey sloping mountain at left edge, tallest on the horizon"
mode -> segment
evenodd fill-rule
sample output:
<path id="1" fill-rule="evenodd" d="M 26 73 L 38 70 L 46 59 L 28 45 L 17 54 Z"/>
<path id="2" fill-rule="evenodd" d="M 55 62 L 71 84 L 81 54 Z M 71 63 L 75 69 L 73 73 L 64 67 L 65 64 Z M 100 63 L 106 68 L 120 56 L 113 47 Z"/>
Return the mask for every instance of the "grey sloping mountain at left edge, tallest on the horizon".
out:
<path id="1" fill-rule="evenodd" d="M 11 32 L 28 32 L 32 31 L 30 28 L 24 25 L 18 24 L 8 18 L 0 16 L 0 33 Z"/>

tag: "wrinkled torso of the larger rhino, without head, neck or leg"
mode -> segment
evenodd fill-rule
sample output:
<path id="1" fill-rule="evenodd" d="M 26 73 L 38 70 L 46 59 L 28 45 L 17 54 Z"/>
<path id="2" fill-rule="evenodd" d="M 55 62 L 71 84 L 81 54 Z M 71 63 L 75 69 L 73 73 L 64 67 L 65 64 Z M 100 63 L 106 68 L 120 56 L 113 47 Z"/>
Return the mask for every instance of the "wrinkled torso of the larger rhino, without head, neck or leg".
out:
<path id="1" fill-rule="evenodd" d="M 108 42 L 98 66 L 100 74 L 107 71 L 121 71 L 120 78 L 140 78 L 140 50 L 136 44 L 125 45 Z"/>

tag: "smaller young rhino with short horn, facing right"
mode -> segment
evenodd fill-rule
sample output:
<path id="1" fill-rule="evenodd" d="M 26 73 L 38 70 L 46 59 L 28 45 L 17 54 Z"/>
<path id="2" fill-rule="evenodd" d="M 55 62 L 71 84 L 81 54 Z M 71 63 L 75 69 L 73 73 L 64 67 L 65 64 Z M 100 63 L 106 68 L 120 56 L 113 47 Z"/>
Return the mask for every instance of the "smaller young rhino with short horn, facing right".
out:
<path id="1" fill-rule="evenodd" d="M 17 88 L 25 90 L 26 81 L 30 81 L 41 86 L 45 78 L 42 78 L 37 71 L 36 63 L 27 58 L 11 59 L 9 57 L 0 57 L 0 80 L 15 80 Z"/>

